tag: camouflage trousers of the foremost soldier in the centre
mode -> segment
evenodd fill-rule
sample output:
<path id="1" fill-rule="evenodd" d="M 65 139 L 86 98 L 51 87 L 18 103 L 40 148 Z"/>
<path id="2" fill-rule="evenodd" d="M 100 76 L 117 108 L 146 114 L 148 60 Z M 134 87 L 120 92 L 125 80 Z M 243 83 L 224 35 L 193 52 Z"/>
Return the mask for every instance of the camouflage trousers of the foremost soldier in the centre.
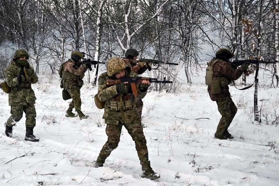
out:
<path id="1" fill-rule="evenodd" d="M 142 125 L 138 121 L 132 121 L 129 124 L 107 124 L 107 127 L 105 128 L 105 133 L 108 136 L 108 141 L 105 142 L 102 150 L 100 151 L 98 161 L 104 163 L 105 159 L 110 155 L 110 153 L 117 148 L 118 143 L 120 141 L 122 126 L 124 126 L 128 130 L 128 133 L 135 142 L 137 155 L 140 159 L 140 164 L 149 162 L 145 136 L 142 130 Z"/>

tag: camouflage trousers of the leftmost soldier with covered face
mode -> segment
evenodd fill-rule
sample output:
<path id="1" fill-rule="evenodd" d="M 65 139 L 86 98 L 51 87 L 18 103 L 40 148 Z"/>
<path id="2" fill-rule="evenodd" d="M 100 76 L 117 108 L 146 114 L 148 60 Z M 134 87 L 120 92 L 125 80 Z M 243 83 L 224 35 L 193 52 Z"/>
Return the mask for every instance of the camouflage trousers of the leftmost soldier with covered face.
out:
<path id="1" fill-rule="evenodd" d="M 8 118 L 6 125 L 7 126 L 15 125 L 22 118 L 23 112 L 25 113 L 25 117 L 26 117 L 25 126 L 35 127 L 36 110 L 34 104 L 11 106 L 11 116 Z"/>

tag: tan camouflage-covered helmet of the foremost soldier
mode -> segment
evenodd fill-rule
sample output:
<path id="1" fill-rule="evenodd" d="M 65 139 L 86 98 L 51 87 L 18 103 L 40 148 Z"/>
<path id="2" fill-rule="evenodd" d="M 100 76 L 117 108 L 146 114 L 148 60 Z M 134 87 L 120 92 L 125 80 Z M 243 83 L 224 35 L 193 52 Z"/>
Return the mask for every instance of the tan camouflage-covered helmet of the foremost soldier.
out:
<path id="1" fill-rule="evenodd" d="M 108 76 L 114 76 L 124 69 L 126 70 L 127 74 L 130 74 L 131 68 L 119 57 L 113 57 L 107 61 Z"/>

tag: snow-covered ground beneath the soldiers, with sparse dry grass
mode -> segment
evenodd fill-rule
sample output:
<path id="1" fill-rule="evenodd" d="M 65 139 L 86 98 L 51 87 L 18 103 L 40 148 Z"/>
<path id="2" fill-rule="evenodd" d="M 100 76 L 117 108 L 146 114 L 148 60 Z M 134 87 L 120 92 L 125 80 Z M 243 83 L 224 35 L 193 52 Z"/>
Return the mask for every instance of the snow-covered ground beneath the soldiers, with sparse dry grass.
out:
<path id="1" fill-rule="evenodd" d="M 81 89 L 82 111 L 90 117 L 67 118 L 69 101 L 62 100 L 58 77 L 39 75 L 39 83 L 33 85 L 37 96 L 34 134 L 39 142 L 24 141 L 25 115 L 13 128 L 13 137 L 5 135 L 10 107 L 8 95 L 1 91 L 0 185 L 278 185 L 279 126 L 271 123 L 279 114 L 279 89 L 259 90 L 262 122 L 258 124 L 253 115 L 254 88 L 230 87 L 238 107 L 229 128 L 235 138 L 218 140 L 213 137 L 220 114 L 207 87 L 182 87 L 177 94 L 149 92 L 144 98 L 149 159 L 161 175 L 154 181 L 140 177 L 135 144 L 124 127 L 119 146 L 104 167 L 94 168 L 107 139 L 103 110 L 94 105 L 96 87 L 85 83 Z"/>

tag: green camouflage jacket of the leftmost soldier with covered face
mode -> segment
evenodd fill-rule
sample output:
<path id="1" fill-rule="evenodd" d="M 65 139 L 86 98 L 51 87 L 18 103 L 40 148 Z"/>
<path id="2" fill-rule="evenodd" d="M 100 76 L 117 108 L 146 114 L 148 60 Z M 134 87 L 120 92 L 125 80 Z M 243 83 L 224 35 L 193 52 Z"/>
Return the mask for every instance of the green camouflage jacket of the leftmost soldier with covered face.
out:
<path id="1" fill-rule="evenodd" d="M 29 69 L 34 69 L 29 66 Z M 18 85 L 18 76 L 22 71 L 22 67 L 18 66 L 14 61 L 10 63 L 10 65 L 5 69 L 5 79 L 10 87 L 9 93 L 9 105 L 31 105 L 35 104 L 36 96 L 31 87 L 31 84 L 37 83 L 38 77 L 34 71 L 31 77 L 31 81 L 22 82 Z"/>

